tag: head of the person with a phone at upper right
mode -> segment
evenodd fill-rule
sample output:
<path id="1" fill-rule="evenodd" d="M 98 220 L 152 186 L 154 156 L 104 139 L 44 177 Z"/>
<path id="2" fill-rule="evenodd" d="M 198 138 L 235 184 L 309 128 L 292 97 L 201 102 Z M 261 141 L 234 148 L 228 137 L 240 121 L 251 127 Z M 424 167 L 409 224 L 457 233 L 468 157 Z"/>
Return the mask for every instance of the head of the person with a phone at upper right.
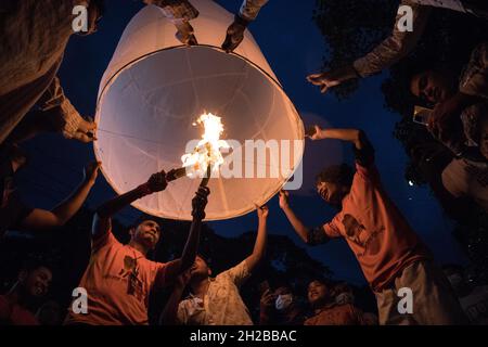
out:
<path id="1" fill-rule="evenodd" d="M 438 104 L 455 92 L 455 77 L 448 70 L 427 69 L 413 75 L 410 91 L 425 102 Z"/>

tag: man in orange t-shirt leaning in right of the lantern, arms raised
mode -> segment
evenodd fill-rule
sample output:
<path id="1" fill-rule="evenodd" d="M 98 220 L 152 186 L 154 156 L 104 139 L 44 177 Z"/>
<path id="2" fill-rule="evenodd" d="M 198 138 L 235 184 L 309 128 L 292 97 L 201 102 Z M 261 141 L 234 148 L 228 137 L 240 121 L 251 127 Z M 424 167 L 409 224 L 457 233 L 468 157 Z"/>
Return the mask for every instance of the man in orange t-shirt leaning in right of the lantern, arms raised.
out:
<path id="1" fill-rule="evenodd" d="M 381 324 L 465 323 L 446 278 L 383 189 L 374 166 L 374 150 L 365 134 L 356 129 L 324 130 L 314 126 L 309 137 L 352 142 L 356 172 L 343 164 L 319 174 L 318 193 L 339 213 L 316 229 L 304 226 L 290 207 L 288 193 L 280 192 L 280 207 L 297 234 L 310 245 L 345 239 L 376 295 Z M 406 311 L 399 309 L 397 293 L 403 287 L 411 290 L 412 312 L 408 306 Z"/>

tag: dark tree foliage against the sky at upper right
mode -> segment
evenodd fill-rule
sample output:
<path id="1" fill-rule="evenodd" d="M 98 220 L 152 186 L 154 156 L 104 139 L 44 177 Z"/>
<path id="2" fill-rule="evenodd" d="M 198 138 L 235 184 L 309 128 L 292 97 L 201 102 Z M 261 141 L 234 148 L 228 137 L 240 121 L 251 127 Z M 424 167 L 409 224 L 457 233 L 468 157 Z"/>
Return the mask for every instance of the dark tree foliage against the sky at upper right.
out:
<path id="1" fill-rule="evenodd" d="M 398 4 L 399 1 L 391 0 L 317 0 L 313 21 L 326 48 L 323 69 L 350 63 L 380 43 L 391 33 Z M 385 108 L 400 116 L 394 136 L 410 157 L 404 177 L 416 184 L 428 183 L 447 214 L 459 221 L 455 235 L 477 269 L 480 282 L 486 282 L 488 273 L 486 213 L 472 203 L 453 202 L 441 192 L 440 172 L 452 159 L 452 154 L 423 126 L 411 120 L 418 101 L 411 95 L 409 86 L 412 75 L 432 67 L 459 76 L 472 50 L 487 39 L 488 21 L 435 9 L 414 51 L 391 66 L 389 76 L 382 83 Z M 336 88 L 333 93 L 339 100 L 347 99 L 358 83 L 360 81 Z"/>

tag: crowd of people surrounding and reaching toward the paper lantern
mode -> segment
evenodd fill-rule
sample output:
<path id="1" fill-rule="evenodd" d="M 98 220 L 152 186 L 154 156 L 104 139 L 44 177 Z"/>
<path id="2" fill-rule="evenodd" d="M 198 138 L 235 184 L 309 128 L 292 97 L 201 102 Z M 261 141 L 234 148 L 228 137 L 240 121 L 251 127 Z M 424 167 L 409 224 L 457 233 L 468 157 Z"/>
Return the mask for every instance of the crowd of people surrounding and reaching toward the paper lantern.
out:
<path id="1" fill-rule="evenodd" d="M 162 9 L 175 24 L 182 44 L 198 44 L 191 25 L 198 16 L 197 2 L 143 2 Z M 223 51 L 235 50 L 267 2 L 243 1 L 228 28 Z M 27 206 L 14 183 L 27 164 L 24 141 L 46 131 L 85 143 L 97 139 L 97 124 L 77 112 L 56 77 L 74 34 L 70 22 L 76 4 L 86 5 L 89 13 L 88 30 L 80 34 L 97 31 L 105 10 L 102 0 L 48 0 L 42 5 L 35 0 L 7 0 L 0 4 L 0 237 L 10 230 L 36 234 L 65 224 L 80 209 L 98 178 L 101 163 L 87 165 L 82 182 L 52 210 Z M 395 64 L 415 49 L 436 8 L 488 17 L 483 0 L 403 0 L 401 5 L 412 9 L 411 31 L 400 30 L 396 23 L 391 36 L 365 56 L 342 68 L 310 75 L 308 80 L 326 92 L 345 80 L 364 78 Z M 401 17 L 399 14 L 397 22 Z M 452 198 L 472 198 L 488 210 L 488 42 L 474 48 L 462 76 L 433 67 L 413 75 L 410 90 L 419 105 L 432 108 L 425 121 L 432 136 L 454 155 L 441 172 L 445 193 Z M 435 264 L 428 247 L 383 188 L 367 134 L 314 125 L 307 137 L 312 142 L 335 139 L 351 144 L 354 166 L 334 165 L 317 175 L 318 194 L 337 214 L 322 226 L 307 226 L 295 214 L 292 194 L 286 191 L 279 193 L 280 208 L 307 245 L 341 237 L 346 241 L 374 294 L 376 312 L 358 308 L 345 283 L 317 278 L 305 294 L 297 293 L 293 279 L 287 279 L 272 285 L 261 283 L 259 318 L 253 321 L 240 291 L 265 259 L 269 207 L 257 207 L 257 235 L 251 255 L 214 277 L 206 256 L 198 253 L 205 207 L 211 198 L 205 185 L 192 200 L 193 220 L 179 258 L 167 262 L 147 258 L 164 233 L 153 219 L 128 230 L 130 241 L 120 243 L 112 232 L 112 218 L 143 196 L 164 196 L 168 182 L 163 170 L 94 211 L 90 260 L 78 285 L 86 291 L 86 309 L 76 300 L 67 310 L 53 300 L 38 305 L 49 292 L 53 272 L 47 262 L 26 259 L 15 283 L 0 295 L 0 324 L 143 325 L 149 323 L 150 293 L 160 290 L 170 291 L 158 320 L 164 325 L 488 323 L 488 287 L 474 287 L 459 266 L 441 268 Z M 398 309 L 402 288 L 413 293 L 412 311 Z"/>

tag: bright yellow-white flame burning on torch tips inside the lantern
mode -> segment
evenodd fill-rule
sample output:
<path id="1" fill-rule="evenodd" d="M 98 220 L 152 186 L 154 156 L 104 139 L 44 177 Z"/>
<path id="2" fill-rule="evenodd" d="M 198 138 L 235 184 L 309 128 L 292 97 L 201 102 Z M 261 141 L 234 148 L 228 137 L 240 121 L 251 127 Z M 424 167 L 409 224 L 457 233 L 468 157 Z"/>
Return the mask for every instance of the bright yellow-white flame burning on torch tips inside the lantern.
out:
<path id="1" fill-rule="evenodd" d="M 221 149 L 229 149 L 229 143 L 221 140 L 223 125 L 221 117 L 211 113 L 203 114 L 193 124 L 194 126 L 203 126 L 204 133 L 202 140 L 191 153 L 181 156 L 182 168 L 168 172 L 168 180 L 174 180 L 182 176 L 190 178 L 204 177 L 203 185 L 208 182 L 213 171 L 218 170 L 223 164 Z"/>

